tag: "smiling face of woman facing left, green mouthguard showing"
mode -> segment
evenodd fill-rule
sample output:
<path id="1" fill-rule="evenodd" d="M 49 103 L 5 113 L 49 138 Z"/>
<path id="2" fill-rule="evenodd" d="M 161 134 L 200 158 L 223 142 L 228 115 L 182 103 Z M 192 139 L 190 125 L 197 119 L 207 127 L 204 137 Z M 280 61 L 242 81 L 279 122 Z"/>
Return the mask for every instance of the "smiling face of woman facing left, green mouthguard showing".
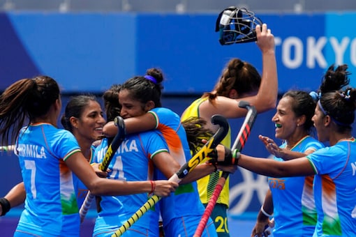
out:
<path id="1" fill-rule="evenodd" d="M 299 119 L 292 110 L 293 99 L 289 96 L 281 98 L 272 122 L 276 125 L 276 138 L 288 140 L 294 135 Z"/>

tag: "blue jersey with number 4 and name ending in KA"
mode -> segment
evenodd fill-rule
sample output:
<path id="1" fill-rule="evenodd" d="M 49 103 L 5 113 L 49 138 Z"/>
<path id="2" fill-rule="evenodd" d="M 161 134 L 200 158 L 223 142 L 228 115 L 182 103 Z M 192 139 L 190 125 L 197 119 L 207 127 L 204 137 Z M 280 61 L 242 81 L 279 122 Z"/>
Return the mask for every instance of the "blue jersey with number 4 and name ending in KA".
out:
<path id="1" fill-rule="evenodd" d="M 94 162 L 100 163 L 106 151 L 107 139 L 103 139 L 96 148 Z M 108 178 L 121 181 L 152 180 L 154 165 L 151 159 L 160 152 L 168 152 L 168 149 L 155 130 L 128 135 L 114 153 L 109 165 L 111 171 Z M 147 193 L 101 197 L 101 212 L 96 218 L 94 236 L 111 236 L 148 199 Z M 147 211 L 131 229 L 145 231 L 149 236 L 158 236 L 158 208 Z M 129 233 L 130 231 L 126 231 L 125 236 L 130 236 Z"/>

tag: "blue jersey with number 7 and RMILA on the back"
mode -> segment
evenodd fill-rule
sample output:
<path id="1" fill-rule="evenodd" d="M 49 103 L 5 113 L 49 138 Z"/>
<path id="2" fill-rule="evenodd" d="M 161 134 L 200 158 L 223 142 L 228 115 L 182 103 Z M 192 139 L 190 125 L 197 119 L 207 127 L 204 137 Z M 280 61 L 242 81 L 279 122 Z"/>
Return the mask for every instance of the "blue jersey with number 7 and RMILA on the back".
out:
<path id="1" fill-rule="evenodd" d="M 15 154 L 27 196 L 15 236 L 78 236 L 80 217 L 73 173 L 64 161 L 80 152 L 67 130 L 49 123 L 22 128 Z"/>

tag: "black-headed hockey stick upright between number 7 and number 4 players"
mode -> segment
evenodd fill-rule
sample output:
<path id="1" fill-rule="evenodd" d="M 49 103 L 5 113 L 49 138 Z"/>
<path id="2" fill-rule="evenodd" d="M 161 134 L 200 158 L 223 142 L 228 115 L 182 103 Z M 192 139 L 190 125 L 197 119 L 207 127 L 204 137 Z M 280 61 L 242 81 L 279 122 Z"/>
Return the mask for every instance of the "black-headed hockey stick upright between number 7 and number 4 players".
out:
<path id="1" fill-rule="evenodd" d="M 99 169 L 101 171 L 105 171 L 107 167 L 109 167 L 110 161 L 114 157 L 114 153 L 117 151 L 117 148 L 119 148 L 121 142 L 124 141 L 126 135 L 124 119 L 122 119 L 120 116 L 117 116 L 114 119 L 114 124 L 117 125 L 119 131 L 117 132 L 117 135 L 115 135 L 110 146 L 107 148 L 105 157 L 101 162 L 101 164 L 99 165 Z M 91 206 L 91 202 L 93 201 L 94 197 L 95 196 L 91 194 L 90 191 L 88 192 L 87 197 L 85 197 L 84 202 L 80 207 L 80 211 L 79 211 L 80 222 L 83 222 L 85 216 L 87 215 L 89 208 Z"/>

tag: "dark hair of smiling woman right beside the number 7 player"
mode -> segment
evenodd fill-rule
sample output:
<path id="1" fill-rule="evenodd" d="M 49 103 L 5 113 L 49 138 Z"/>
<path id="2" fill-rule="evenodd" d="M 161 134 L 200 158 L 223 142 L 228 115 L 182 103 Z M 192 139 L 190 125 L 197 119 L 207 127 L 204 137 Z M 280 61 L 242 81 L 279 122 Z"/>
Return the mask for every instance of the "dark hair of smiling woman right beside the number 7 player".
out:
<path id="1" fill-rule="evenodd" d="M 64 129 L 73 132 L 73 126 L 69 119 L 71 117 L 80 118 L 90 101 L 97 102 L 98 100 L 96 100 L 94 95 L 76 95 L 69 100 L 64 114 L 61 116 L 61 124 Z"/>

